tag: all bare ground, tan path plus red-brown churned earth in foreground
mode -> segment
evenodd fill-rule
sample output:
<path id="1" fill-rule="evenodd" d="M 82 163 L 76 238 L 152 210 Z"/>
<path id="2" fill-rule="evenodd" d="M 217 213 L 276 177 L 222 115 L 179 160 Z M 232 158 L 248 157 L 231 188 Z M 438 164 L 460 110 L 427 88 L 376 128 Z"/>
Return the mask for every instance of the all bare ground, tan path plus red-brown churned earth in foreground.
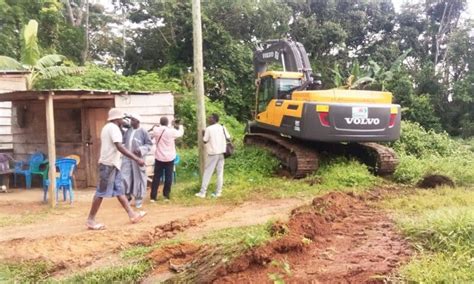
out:
<path id="1" fill-rule="evenodd" d="M 106 200 L 98 216 L 105 231 L 88 231 L 87 216 L 92 191 L 78 191 L 77 202 L 63 204 L 49 213 L 38 199 L 40 191 L 0 194 L 0 212 L 20 220 L 0 227 L 0 261 L 47 259 L 58 269 L 56 276 L 123 262 L 119 252 L 134 245 L 150 245 L 177 234 L 190 240 L 160 248 L 150 254 L 153 277 L 168 279 L 186 269 L 206 271 L 195 280 L 217 283 L 379 282 L 396 272 L 410 250 L 388 216 L 370 205 L 380 194 L 354 196 L 331 193 L 314 200 L 280 199 L 246 202 L 239 206 L 216 203 L 199 206 L 146 204 L 144 222 L 129 224 L 116 200 Z M 22 224 L 24 216 L 38 220 Z M 244 252 L 213 267 L 199 258 L 211 247 L 197 247 L 191 240 L 214 230 L 262 224 L 280 219 L 273 227 L 274 241 Z M 23 221 L 21 221 L 23 220 Z M 29 219 L 28 219 L 29 220 Z M 123 263 L 122 263 L 123 264 Z"/>

